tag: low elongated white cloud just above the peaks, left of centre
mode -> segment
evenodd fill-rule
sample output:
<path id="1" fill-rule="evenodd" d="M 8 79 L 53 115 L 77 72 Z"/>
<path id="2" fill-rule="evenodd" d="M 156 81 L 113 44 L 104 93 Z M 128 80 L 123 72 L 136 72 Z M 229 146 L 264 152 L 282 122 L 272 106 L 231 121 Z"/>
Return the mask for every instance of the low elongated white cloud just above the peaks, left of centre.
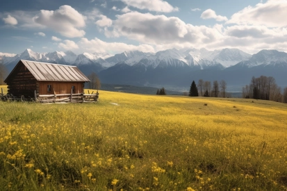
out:
<path id="1" fill-rule="evenodd" d="M 138 46 L 133 44 L 125 44 L 122 42 L 104 42 L 98 38 L 88 40 L 82 38 L 78 43 L 83 51 L 90 53 L 94 52 L 108 52 L 108 53 L 121 53 L 123 51 L 143 51 L 143 52 L 154 52 L 154 47 L 149 44 L 140 44 Z"/>

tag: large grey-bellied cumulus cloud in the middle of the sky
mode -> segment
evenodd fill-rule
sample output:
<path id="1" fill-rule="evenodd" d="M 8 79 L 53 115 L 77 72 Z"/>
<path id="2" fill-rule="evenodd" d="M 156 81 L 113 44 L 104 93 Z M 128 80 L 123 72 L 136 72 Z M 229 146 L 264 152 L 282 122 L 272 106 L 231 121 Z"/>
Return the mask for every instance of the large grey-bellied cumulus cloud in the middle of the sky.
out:
<path id="1" fill-rule="evenodd" d="M 129 39 L 151 44 L 204 43 L 220 38 L 220 32 L 206 26 L 192 26 L 178 17 L 131 12 L 117 15 L 113 31 L 108 37 L 126 36 Z"/>

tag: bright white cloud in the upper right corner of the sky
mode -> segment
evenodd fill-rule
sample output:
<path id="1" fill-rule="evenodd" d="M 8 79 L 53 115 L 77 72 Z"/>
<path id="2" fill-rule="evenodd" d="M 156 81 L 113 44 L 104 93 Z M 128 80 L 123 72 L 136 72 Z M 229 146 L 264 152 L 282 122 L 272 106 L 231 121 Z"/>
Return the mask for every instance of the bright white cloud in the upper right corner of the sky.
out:
<path id="1" fill-rule="evenodd" d="M 231 16 L 227 24 L 251 24 L 268 27 L 287 26 L 287 1 L 270 0 L 266 3 L 258 3 L 256 6 L 248 6 Z"/>

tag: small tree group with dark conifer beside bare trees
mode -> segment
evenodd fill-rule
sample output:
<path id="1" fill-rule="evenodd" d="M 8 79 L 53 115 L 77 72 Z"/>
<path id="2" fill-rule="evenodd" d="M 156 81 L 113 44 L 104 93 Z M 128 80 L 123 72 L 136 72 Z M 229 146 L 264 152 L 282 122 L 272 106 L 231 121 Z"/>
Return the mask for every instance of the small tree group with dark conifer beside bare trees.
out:
<path id="1" fill-rule="evenodd" d="M 197 85 L 195 81 L 192 81 L 188 96 L 230 97 L 230 94 L 226 90 L 227 90 L 227 82 L 224 80 L 220 82 L 213 81 L 213 85 L 211 87 L 211 81 L 204 81 L 203 79 L 199 79 Z"/>

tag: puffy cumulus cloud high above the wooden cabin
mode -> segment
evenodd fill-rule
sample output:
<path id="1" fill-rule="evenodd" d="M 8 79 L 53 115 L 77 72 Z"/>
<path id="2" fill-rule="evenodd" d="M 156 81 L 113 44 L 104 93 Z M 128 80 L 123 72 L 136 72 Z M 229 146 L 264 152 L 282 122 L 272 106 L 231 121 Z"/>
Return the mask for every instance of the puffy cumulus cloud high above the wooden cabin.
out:
<path id="1" fill-rule="evenodd" d="M 60 6 L 58 10 L 41 10 L 33 17 L 35 23 L 51 28 L 67 38 L 83 37 L 85 17 L 71 6 Z"/>

